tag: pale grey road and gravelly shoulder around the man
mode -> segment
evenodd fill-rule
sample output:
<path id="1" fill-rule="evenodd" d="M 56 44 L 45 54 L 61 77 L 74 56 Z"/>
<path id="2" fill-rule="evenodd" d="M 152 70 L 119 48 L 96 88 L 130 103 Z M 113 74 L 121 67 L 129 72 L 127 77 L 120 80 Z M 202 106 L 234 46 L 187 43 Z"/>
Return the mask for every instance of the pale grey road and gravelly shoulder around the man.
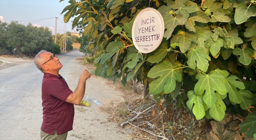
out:
<path id="1" fill-rule="evenodd" d="M 63 64 L 59 73 L 74 91 L 80 73 L 86 69 L 76 58 L 84 54 L 74 50 L 57 56 Z M 0 140 L 40 140 L 42 78 L 43 73 L 36 68 L 33 60 L 0 70 Z M 118 91 L 96 76 L 91 76 L 86 82 L 86 95 L 96 98 L 103 106 L 112 102 L 115 107 L 118 102 L 123 102 Z M 114 122 L 107 121 L 109 114 L 100 112 L 100 106 L 74 107 L 73 130 L 68 132 L 67 140 L 130 140 L 126 134 L 118 132 L 120 129 Z"/>

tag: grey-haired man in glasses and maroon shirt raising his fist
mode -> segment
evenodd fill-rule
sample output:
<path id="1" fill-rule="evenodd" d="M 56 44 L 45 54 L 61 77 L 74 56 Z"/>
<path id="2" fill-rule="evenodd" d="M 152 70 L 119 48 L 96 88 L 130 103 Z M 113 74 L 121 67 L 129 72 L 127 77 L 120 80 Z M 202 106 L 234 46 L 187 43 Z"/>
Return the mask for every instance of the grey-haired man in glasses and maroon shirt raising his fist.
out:
<path id="1" fill-rule="evenodd" d="M 79 105 L 84 97 L 87 70 L 80 75 L 76 90 L 69 89 L 59 74 L 62 64 L 55 54 L 42 50 L 36 55 L 36 67 L 44 73 L 42 82 L 43 122 L 41 140 L 66 140 L 74 121 L 74 104 Z"/>

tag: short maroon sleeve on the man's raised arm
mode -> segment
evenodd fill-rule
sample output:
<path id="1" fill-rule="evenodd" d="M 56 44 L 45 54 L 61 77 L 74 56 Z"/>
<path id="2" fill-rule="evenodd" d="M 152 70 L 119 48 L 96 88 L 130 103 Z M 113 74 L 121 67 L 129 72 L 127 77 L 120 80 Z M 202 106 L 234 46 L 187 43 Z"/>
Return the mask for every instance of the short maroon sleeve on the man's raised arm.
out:
<path id="1" fill-rule="evenodd" d="M 53 80 L 49 85 L 49 93 L 66 102 L 68 96 L 72 94 L 72 90 L 69 89 L 68 85 L 60 80 Z"/>

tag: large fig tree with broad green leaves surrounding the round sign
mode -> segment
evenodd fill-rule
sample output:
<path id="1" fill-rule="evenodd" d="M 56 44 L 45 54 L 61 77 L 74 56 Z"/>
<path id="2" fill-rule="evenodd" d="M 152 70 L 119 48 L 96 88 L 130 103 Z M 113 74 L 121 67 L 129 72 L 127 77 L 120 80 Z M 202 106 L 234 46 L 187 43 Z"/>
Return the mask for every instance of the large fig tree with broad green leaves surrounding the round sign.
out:
<path id="1" fill-rule="evenodd" d="M 60 0 L 60 2 L 63 0 Z M 95 74 L 108 66 L 109 75 L 122 83 L 134 80 L 149 84 L 157 102 L 172 99 L 178 108 L 192 111 L 196 119 L 222 120 L 226 108 L 246 116 L 256 104 L 256 4 L 254 0 L 75 0 L 62 13 L 72 26 L 80 18 L 89 47 L 98 50 Z M 144 8 L 157 9 L 165 24 L 164 39 L 149 54 L 133 45 L 132 24 Z M 119 70 L 113 71 L 114 68 Z M 255 109 L 241 132 L 256 134 Z"/>

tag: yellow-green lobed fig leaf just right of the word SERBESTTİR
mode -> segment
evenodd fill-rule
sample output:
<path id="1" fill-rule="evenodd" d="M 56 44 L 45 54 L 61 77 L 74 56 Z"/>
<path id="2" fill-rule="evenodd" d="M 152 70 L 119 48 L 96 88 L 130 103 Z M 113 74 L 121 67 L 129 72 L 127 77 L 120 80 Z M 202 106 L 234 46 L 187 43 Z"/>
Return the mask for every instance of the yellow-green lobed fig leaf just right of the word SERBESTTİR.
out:
<path id="1" fill-rule="evenodd" d="M 184 33 L 184 34 L 176 34 L 171 39 L 171 44 L 178 43 L 180 47 L 181 52 L 186 52 L 188 48 L 190 47 L 191 42 L 196 42 L 198 40 L 198 32 L 195 33 L 192 32 L 190 34 Z"/>

